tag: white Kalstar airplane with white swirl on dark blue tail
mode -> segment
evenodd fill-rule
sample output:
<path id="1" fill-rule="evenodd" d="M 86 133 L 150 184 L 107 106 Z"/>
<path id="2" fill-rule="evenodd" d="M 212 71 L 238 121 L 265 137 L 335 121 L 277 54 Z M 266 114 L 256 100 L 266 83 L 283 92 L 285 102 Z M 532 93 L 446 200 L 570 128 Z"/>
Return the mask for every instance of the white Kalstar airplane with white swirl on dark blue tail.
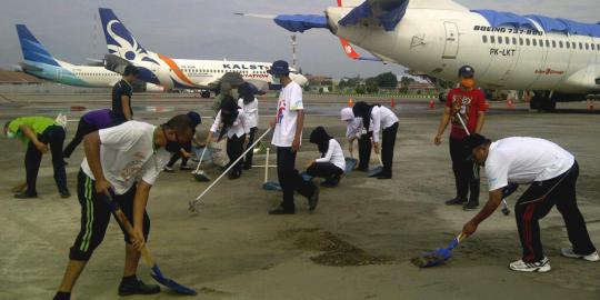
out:
<path id="1" fill-rule="evenodd" d="M 210 97 L 223 74 L 237 72 L 244 81 L 260 90 L 277 89 L 267 72 L 271 63 L 228 60 L 173 59 L 146 50 L 110 9 L 100 8 L 100 19 L 107 39 L 109 54 L 106 56 L 109 68 L 119 68 L 132 63 L 140 70 L 139 78 L 146 82 L 160 84 L 168 89 L 201 89 L 203 98 Z M 300 86 L 308 80 L 296 70 L 290 78 Z"/>

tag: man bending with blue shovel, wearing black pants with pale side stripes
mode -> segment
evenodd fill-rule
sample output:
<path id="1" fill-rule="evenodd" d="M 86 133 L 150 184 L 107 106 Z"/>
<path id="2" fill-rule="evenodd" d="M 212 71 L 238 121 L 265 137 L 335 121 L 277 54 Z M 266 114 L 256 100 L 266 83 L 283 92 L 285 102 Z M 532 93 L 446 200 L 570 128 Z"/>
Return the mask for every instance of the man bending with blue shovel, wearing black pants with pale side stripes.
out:
<path id="1" fill-rule="evenodd" d="M 138 280 L 136 271 L 150 232 L 146 212 L 150 189 L 171 153 L 192 138 L 190 119 L 179 114 L 167 123 L 152 126 L 129 121 L 86 136 L 86 159 L 78 176 L 81 229 L 69 252 L 69 264 L 56 300 L 70 299 L 71 290 L 94 249 L 102 242 L 110 220 L 103 197 L 113 201 L 133 224 L 134 236 L 123 230 L 126 240 L 124 273 L 119 296 L 158 293 L 158 286 Z"/>

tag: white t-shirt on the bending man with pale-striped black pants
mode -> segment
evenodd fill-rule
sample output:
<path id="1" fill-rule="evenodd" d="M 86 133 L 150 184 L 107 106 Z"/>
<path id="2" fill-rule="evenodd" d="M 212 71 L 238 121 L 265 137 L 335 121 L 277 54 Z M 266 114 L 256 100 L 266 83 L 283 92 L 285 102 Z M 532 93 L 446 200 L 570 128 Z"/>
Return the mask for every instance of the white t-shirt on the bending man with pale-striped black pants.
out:
<path id="1" fill-rule="evenodd" d="M 149 123 L 129 121 L 98 131 L 102 171 L 117 194 L 126 193 L 140 179 L 154 184 L 160 171 L 169 162 L 171 153 L 164 148 L 154 152 L 156 128 Z M 81 169 L 96 180 L 87 158 Z"/>

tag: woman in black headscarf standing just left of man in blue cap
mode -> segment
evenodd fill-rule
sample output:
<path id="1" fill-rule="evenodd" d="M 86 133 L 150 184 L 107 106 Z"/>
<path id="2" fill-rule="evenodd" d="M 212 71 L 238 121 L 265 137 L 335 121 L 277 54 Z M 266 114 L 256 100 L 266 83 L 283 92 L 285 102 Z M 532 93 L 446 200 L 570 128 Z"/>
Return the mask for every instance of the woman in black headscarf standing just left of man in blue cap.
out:
<path id="1" fill-rule="evenodd" d="M 258 130 L 258 100 L 254 97 L 256 88 L 248 83 L 243 82 L 238 87 L 238 94 L 240 99 L 238 100 L 238 107 L 242 108 L 246 120 L 248 121 L 248 127 L 250 128 L 250 134 L 248 138 L 248 144 L 254 142 L 254 137 Z M 250 170 L 252 168 L 252 157 L 254 151 L 248 151 L 246 154 L 243 169 Z"/>

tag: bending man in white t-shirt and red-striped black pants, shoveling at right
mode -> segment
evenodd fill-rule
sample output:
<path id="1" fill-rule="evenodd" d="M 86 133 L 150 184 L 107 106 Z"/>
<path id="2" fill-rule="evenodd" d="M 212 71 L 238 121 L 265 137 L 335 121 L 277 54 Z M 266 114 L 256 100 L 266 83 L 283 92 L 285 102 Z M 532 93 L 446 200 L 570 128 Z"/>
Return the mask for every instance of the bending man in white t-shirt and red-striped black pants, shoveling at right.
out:
<path id="1" fill-rule="evenodd" d="M 562 249 L 561 254 L 587 261 L 600 260 L 577 206 L 579 164 L 571 153 L 551 141 L 536 138 L 507 138 L 491 142 L 473 133 L 464 144 L 474 161 L 486 167 L 490 192 L 486 206 L 464 224 L 463 234 L 473 234 L 479 223 L 498 208 L 504 187 L 510 183 L 530 184 L 514 204 L 522 259 L 511 262 L 509 268 L 521 272 L 551 270 L 543 253 L 538 221 L 554 206 L 564 219 L 572 246 Z"/>

